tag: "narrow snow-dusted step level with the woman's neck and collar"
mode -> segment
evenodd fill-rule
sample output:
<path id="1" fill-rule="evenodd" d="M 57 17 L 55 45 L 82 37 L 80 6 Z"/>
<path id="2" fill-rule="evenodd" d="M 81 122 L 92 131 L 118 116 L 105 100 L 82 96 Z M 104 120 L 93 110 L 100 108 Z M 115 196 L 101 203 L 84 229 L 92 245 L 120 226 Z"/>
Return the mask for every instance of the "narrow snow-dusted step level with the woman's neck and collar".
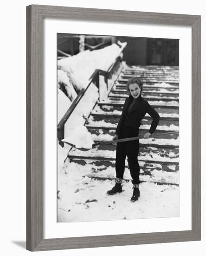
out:
<path id="1" fill-rule="evenodd" d="M 122 101 L 123 99 L 126 100 L 128 98 L 128 94 L 113 94 L 109 93 L 108 99 L 112 101 Z M 160 97 L 160 96 L 144 96 L 146 101 L 176 101 L 179 102 L 179 97 Z"/>

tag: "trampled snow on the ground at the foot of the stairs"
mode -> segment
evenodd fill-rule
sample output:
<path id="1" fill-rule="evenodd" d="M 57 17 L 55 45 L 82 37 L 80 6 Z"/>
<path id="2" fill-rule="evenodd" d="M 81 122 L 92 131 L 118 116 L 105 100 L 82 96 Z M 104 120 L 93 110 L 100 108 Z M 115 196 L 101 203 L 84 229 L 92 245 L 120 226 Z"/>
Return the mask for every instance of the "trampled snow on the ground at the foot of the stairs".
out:
<path id="1" fill-rule="evenodd" d="M 92 164 L 81 166 L 73 162 L 65 167 L 66 173 L 62 173 L 60 177 L 64 184 L 59 192 L 58 222 L 179 216 L 178 186 L 142 182 L 139 200 L 130 202 L 133 193 L 131 182 L 122 182 L 122 193 L 107 195 L 106 191 L 114 186 L 114 180 L 91 179 L 87 175 L 90 175 L 92 168 L 96 167 Z M 115 170 L 111 171 L 114 177 Z M 161 178 L 161 172 L 158 173 L 157 170 L 154 175 Z M 145 176 L 141 175 L 141 179 L 143 177 Z M 167 174 L 166 179 L 175 181 L 171 173 Z"/>

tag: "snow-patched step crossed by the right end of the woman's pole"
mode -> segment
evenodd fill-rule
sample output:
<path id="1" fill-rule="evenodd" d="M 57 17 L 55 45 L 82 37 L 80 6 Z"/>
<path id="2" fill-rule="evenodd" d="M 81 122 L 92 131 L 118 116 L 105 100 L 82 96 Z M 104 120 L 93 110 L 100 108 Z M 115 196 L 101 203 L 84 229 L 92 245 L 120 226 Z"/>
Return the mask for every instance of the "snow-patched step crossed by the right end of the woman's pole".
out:
<path id="1" fill-rule="evenodd" d="M 87 125 L 86 128 L 88 129 L 88 131 L 90 132 L 91 135 L 103 135 L 103 136 L 114 136 L 115 135 L 115 131 L 116 131 L 116 128 L 115 127 L 98 127 L 98 126 L 90 126 L 90 125 Z M 148 129 L 142 129 L 141 127 L 139 128 L 139 136 L 143 136 L 146 132 L 148 132 Z M 167 134 L 167 135 L 162 135 L 162 133 L 166 133 L 168 132 L 168 130 L 159 130 L 158 128 L 155 130 L 155 137 L 151 137 L 147 140 L 152 140 L 152 141 L 155 141 L 155 140 L 158 140 L 158 139 L 163 139 L 164 140 L 164 144 L 169 144 L 168 142 L 169 141 L 165 141 L 165 140 L 174 140 L 174 141 L 171 141 L 171 144 L 173 143 L 173 145 L 177 145 L 177 139 L 179 137 L 179 134 L 176 133 L 176 134 Z M 109 138 L 109 137 L 108 137 Z M 105 139 L 106 140 L 106 139 Z M 142 142 L 142 139 L 141 139 L 141 143 Z M 160 141 L 158 141 L 159 144 L 162 144 Z"/>

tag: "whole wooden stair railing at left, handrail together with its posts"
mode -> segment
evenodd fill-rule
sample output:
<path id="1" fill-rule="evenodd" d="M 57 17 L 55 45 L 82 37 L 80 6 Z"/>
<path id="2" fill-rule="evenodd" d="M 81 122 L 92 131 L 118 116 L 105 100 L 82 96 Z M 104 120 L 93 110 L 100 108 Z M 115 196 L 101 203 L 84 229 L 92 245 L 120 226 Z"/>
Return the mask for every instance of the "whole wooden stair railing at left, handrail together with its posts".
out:
<path id="1" fill-rule="evenodd" d="M 123 49 L 124 47 L 122 47 L 120 54 L 122 53 Z M 119 55 L 114 61 L 114 63 L 108 68 L 107 71 L 96 69 L 91 75 L 90 82 L 87 85 L 87 87 L 81 89 L 79 94 L 77 95 L 77 98 L 71 103 L 70 108 L 66 111 L 66 113 L 64 114 L 62 119 L 59 121 L 57 126 L 58 140 L 59 140 L 59 144 L 62 147 L 64 146 L 64 142 L 61 141 L 64 138 L 64 124 L 69 119 L 74 109 L 77 107 L 77 104 L 82 99 L 87 89 L 90 87 L 92 83 L 94 83 L 99 89 L 99 100 L 100 101 L 104 100 L 105 94 L 103 94 L 102 92 L 105 91 L 106 89 L 106 91 L 109 93 L 110 88 L 108 88 L 108 79 L 115 72 L 115 70 L 118 69 L 121 61 L 122 61 L 122 57 Z"/>

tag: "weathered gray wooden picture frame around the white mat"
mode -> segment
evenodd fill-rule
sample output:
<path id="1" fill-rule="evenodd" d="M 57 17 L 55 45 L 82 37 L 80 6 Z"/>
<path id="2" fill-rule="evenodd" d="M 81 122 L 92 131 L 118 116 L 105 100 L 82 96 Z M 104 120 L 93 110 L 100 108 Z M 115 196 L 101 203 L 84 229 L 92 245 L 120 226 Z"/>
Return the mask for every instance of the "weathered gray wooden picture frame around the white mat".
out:
<path id="1" fill-rule="evenodd" d="M 43 238 L 44 18 L 192 27 L 192 230 Z M 26 249 L 41 251 L 200 240 L 200 16 L 31 5 L 26 7 L 26 33 Z"/>

